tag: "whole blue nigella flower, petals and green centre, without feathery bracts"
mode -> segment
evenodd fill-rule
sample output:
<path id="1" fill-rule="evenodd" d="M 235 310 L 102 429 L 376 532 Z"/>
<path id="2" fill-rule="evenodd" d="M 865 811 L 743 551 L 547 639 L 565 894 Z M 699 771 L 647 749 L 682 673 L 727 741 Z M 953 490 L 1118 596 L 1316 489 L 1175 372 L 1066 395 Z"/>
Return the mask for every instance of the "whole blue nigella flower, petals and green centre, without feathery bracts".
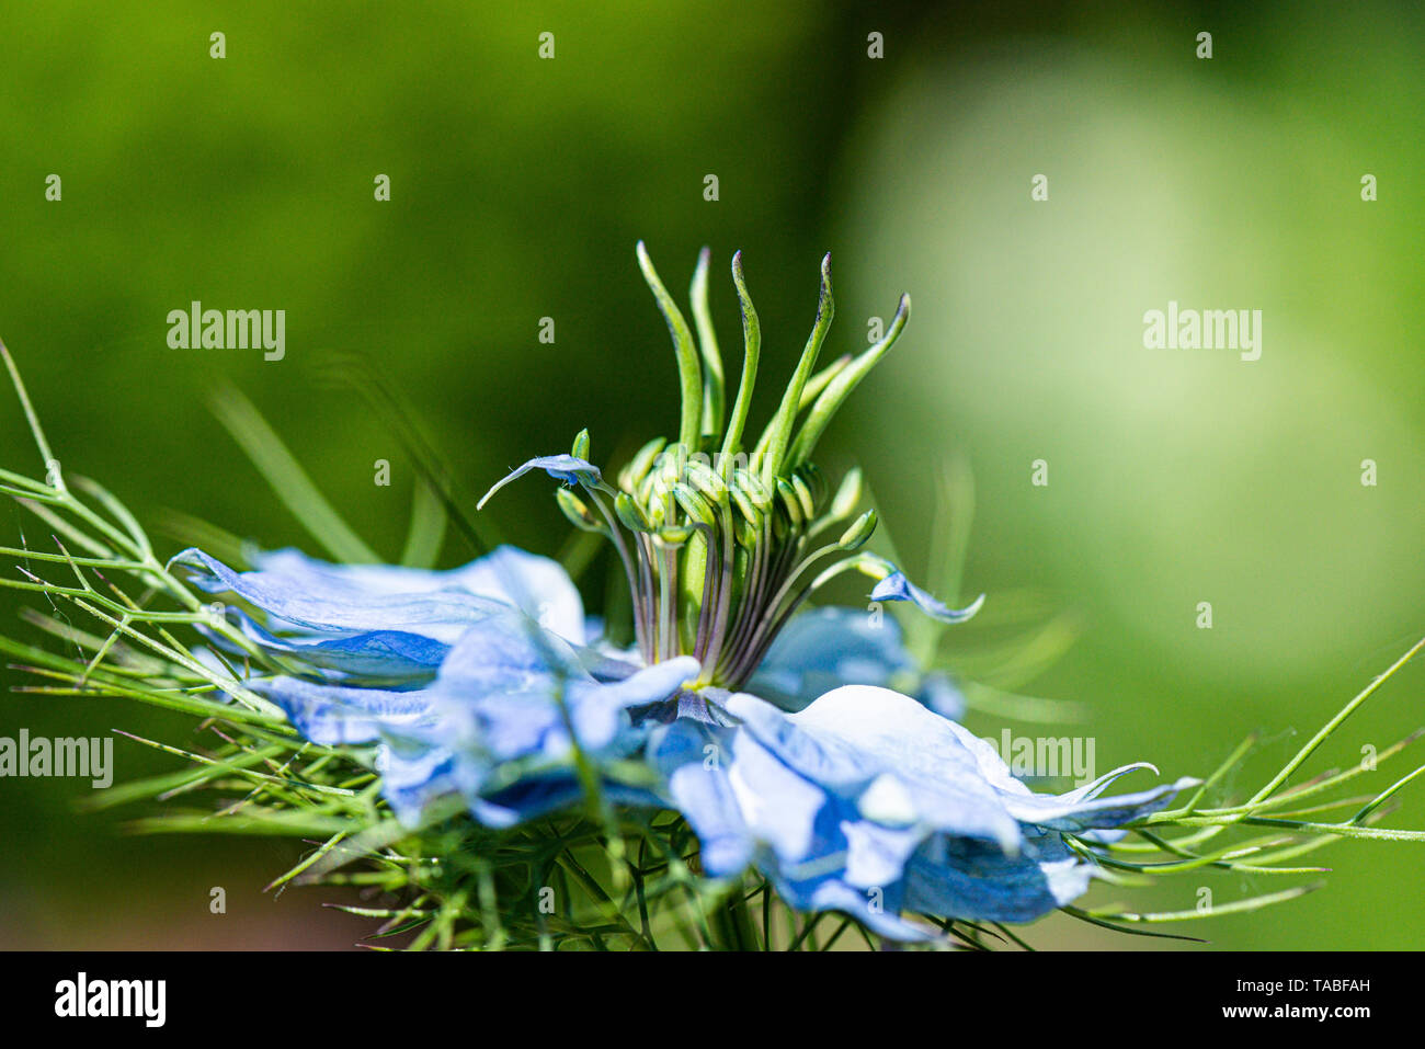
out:
<path id="1" fill-rule="evenodd" d="M 1063 795 L 1013 780 L 953 717 L 959 696 L 926 674 L 892 620 L 805 610 L 829 580 L 875 580 L 874 601 L 955 610 L 864 550 L 861 475 L 832 492 L 812 453 L 831 418 L 905 328 L 818 371 L 832 319 L 829 257 L 811 338 L 779 408 L 745 430 L 761 332 L 742 279 L 744 361 L 728 408 L 707 309 L 703 252 L 694 339 L 643 245 L 638 261 L 677 351 L 677 440 L 656 439 L 613 479 L 569 453 L 530 459 L 580 529 L 618 554 L 634 646 L 590 634 L 577 589 L 551 560 L 502 547 L 463 569 L 322 564 L 295 552 L 234 572 L 201 550 L 175 559 L 276 668 L 244 684 L 308 738 L 375 745 L 375 768 L 409 825 L 439 798 L 509 827 L 579 804 L 590 775 L 607 804 L 675 808 L 705 874 L 755 867 L 792 906 L 836 909 L 895 939 L 926 936 L 902 915 L 1022 922 L 1082 895 L 1083 841 L 1164 807 L 1178 781 L 1103 797 L 1126 765 Z M 215 647 L 225 643 L 214 634 Z"/>

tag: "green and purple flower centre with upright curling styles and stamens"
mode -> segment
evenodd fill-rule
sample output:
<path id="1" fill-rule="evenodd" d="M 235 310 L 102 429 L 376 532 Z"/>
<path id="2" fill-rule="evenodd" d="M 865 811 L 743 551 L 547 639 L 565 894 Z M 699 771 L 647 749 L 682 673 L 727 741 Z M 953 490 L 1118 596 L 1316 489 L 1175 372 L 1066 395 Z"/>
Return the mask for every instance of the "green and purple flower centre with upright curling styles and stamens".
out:
<path id="1" fill-rule="evenodd" d="M 875 510 L 855 516 L 861 472 L 852 469 L 828 499 L 825 477 L 811 462 L 832 416 L 905 329 L 911 298 L 901 296 L 884 338 L 818 371 L 817 356 L 835 312 L 826 255 L 811 336 L 777 412 L 754 442 L 747 416 L 761 325 L 738 252 L 732 284 L 742 314 L 742 378 L 737 399 L 724 410 L 722 358 L 708 311 L 708 258 L 704 248 L 690 289 L 694 343 L 693 329 L 638 244 L 638 265 L 677 352 L 678 439 L 644 445 L 614 486 L 589 462 L 589 430 L 583 430 L 570 455 L 532 459 L 492 487 L 479 506 L 530 469 L 566 482 L 570 487 L 556 493 L 564 516 L 576 527 L 606 536 L 618 552 L 644 660 L 695 656 L 703 673 L 694 687 L 735 690 L 801 603 L 842 572 L 856 569 L 882 580 L 889 600 L 928 597 L 909 587 L 889 562 L 856 553 L 876 527 Z M 963 617 L 973 610 L 946 613 Z"/>

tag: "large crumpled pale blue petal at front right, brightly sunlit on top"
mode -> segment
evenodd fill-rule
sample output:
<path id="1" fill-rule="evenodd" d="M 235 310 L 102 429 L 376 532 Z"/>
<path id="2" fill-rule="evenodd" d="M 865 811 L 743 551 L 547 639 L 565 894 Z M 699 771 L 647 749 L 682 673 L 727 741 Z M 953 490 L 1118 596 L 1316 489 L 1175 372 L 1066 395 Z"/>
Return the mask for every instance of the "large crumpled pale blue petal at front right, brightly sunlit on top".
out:
<path id="1" fill-rule="evenodd" d="M 1096 835 L 1191 782 L 1102 798 L 1130 765 L 1036 795 L 988 743 L 876 687 L 836 688 L 797 714 L 747 694 L 725 707 L 740 725 L 680 718 L 650 743 L 710 872 L 741 869 L 751 851 L 791 906 L 844 911 L 895 939 L 932 935 L 902 909 L 1022 922 L 1070 902 L 1096 868 L 1063 832 Z"/>

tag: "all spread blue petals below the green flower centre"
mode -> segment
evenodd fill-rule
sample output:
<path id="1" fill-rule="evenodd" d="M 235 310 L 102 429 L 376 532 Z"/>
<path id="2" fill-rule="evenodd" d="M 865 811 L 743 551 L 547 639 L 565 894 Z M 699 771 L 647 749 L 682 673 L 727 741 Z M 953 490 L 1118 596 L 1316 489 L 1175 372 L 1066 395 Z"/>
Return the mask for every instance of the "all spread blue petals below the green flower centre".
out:
<path id="1" fill-rule="evenodd" d="M 1190 782 L 1102 797 L 1130 765 L 1032 792 L 989 744 L 879 687 L 923 678 L 892 620 L 876 629 L 846 609 L 794 619 L 754 674 L 787 713 L 751 693 L 691 691 L 691 656 L 611 658 L 584 637 L 563 570 L 513 547 L 443 573 L 291 550 L 245 573 L 197 550 L 175 564 L 264 616 L 229 613 L 292 673 L 245 684 L 315 743 L 373 744 L 408 825 L 446 795 L 489 827 L 579 804 L 577 750 L 610 801 L 678 810 L 708 875 L 755 867 L 789 905 L 893 939 L 932 935 L 902 912 L 1023 922 L 1077 898 L 1094 868 L 1064 835 L 1136 820 Z M 628 761 L 651 775 L 630 780 Z"/>

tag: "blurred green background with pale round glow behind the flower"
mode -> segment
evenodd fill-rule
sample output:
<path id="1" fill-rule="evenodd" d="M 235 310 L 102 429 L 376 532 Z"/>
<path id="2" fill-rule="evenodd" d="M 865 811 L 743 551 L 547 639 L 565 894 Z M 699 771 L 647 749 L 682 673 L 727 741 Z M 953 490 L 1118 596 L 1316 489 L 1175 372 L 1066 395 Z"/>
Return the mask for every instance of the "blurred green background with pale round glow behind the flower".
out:
<path id="1" fill-rule="evenodd" d="M 1251 772 L 1267 775 L 1425 629 L 1418 7 L 50 3 L 6 7 L 0 38 L 0 336 L 64 467 L 145 522 L 171 507 L 311 549 L 209 412 L 231 382 L 395 557 L 412 466 L 329 381 L 339 351 L 405 391 L 465 496 L 581 426 L 604 462 L 674 429 L 638 238 L 670 286 L 712 247 L 734 373 L 725 267 L 744 249 L 767 410 L 829 248 L 831 352 L 865 345 L 902 291 L 915 314 L 821 459 L 866 467 L 923 574 L 932 477 L 966 458 L 966 586 L 990 603 L 1032 587 L 1080 616 L 1082 640 L 1027 688 L 1090 706 L 1073 731 L 1100 768 L 1204 774 L 1261 730 Z M 1047 201 L 1030 200 L 1036 174 Z M 170 349 L 167 314 L 192 299 L 285 309 L 286 358 Z M 1261 309 L 1261 359 L 1144 349 L 1144 311 L 1170 299 Z M 9 405 L 0 462 L 40 473 Z M 1030 485 L 1036 459 L 1047 487 Z M 564 539 L 544 485 L 486 515 L 533 550 Z M 4 544 L 43 536 L 11 505 L 0 519 Z M 452 542 L 449 560 L 467 556 Z M 1425 724 L 1422 697 L 1425 668 L 1408 667 L 1317 767 Z M 21 725 L 192 731 L 117 700 L 6 696 L 0 734 Z M 120 780 L 175 764 L 123 740 L 115 755 Z M 124 837 L 137 812 L 78 815 L 86 792 L 0 781 L 0 945 L 346 946 L 365 929 L 316 906 L 329 894 L 261 894 L 298 844 Z M 1425 825 L 1418 791 L 1392 824 Z M 1197 931 L 1218 948 L 1425 942 L 1425 848 L 1318 855 L 1325 891 Z M 1190 908 L 1197 884 L 1130 902 Z M 1218 902 L 1282 887 L 1201 884 Z M 227 915 L 208 912 L 214 885 Z M 1060 919 L 1032 939 L 1151 944 Z"/>

